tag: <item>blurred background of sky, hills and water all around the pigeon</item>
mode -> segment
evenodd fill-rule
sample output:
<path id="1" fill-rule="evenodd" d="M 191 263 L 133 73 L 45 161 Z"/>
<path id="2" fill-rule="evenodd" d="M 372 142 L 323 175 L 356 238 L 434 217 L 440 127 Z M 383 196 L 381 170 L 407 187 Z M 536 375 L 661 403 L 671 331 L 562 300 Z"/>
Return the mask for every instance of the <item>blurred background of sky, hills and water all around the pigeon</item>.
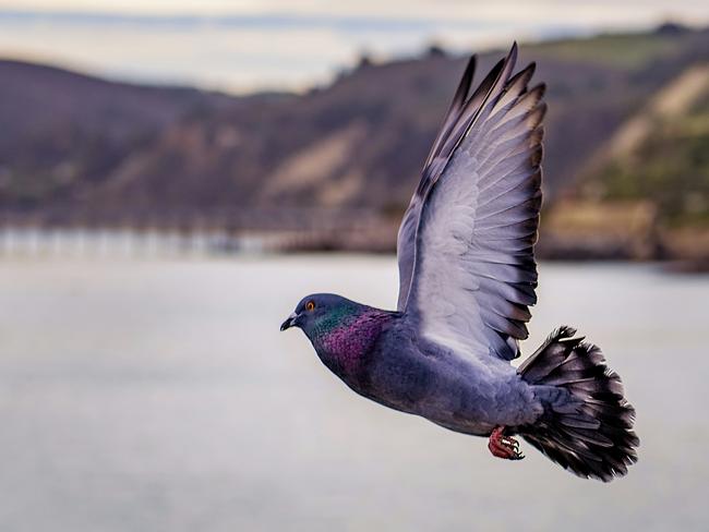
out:
<path id="1" fill-rule="evenodd" d="M 524 351 L 568 323 L 624 377 L 610 485 L 277 330 L 310 292 L 395 306 L 467 57 L 513 40 L 549 102 Z M 705 530 L 708 270 L 705 1 L 0 0 L 2 530 Z"/>

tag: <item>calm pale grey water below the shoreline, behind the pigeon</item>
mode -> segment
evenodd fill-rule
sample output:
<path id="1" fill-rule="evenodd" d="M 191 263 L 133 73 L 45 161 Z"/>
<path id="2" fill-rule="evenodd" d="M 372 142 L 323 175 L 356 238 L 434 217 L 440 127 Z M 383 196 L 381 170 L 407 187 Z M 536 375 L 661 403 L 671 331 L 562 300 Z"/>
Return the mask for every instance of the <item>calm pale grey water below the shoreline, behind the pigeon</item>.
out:
<path id="1" fill-rule="evenodd" d="M 365 401 L 278 332 L 305 293 L 388 307 L 396 279 L 389 257 L 0 263 L 0 530 L 706 530 L 709 277 L 541 267 L 527 352 L 577 326 L 638 411 L 611 484 Z"/>

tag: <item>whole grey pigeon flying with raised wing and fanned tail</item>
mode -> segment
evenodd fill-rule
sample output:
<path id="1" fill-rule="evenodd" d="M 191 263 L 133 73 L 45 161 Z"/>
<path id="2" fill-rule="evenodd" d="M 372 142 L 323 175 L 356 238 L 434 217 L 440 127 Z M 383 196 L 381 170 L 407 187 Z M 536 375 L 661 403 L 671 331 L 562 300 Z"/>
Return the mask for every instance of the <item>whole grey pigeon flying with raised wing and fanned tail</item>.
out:
<path id="1" fill-rule="evenodd" d="M 299 327 L 357 394 L 519 460 L 515 436 L 564 469 L 608 482 L 637 461 L 635 410 L 601 350 L 562 326 L 522 364 L 537 302 L 544 85 L 515 73 L 517 45 L 473 89 L 473 56 L 398 239 L 396 311 L 303 298 Z"/>

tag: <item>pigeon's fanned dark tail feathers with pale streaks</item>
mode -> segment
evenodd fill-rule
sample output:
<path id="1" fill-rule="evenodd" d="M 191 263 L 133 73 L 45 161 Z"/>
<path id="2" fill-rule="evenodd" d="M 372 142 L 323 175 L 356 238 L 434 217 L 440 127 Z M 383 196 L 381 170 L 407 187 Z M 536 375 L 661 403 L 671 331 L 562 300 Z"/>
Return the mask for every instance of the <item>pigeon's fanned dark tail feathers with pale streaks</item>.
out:
<path id="1" fill-rule="evenodd" d="M 537 423 L 519 433 L 564 469 L 608 482 L 637 461 L 635 409 L 601 350 L 575 335 L 561 327 L 519 366 L 544 404 Z"/>

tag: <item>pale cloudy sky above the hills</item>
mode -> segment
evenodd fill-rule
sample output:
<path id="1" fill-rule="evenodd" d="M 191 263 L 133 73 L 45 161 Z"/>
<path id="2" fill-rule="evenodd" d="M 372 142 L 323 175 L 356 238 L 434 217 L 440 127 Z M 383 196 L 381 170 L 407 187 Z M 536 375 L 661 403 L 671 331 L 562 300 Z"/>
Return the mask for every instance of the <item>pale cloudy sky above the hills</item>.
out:
<path id="1" fill-rule="evenodd" d="M 327 83 L 362 52 L 459 52 L 668 19 L 709 25 L 709 1 L 0 0 L 0 57 L 110 78 L 248 93 Z"/>

